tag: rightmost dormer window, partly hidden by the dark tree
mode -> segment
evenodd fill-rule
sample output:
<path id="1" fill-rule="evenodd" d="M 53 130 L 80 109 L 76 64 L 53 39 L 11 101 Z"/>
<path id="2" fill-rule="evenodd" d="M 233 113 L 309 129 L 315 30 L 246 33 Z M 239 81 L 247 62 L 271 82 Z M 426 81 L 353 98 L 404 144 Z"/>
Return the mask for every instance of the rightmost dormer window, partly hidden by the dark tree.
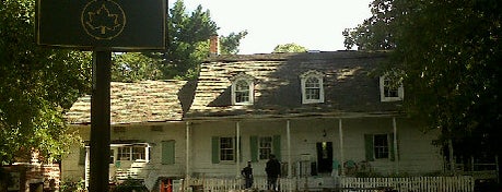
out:
<path id="1" fill-rule="evenodd" d="M 381 101 L 397 101 L 405 98 L 402 83 L 394 82 L 386 75 L 380 77 L 380 93 Z"/>

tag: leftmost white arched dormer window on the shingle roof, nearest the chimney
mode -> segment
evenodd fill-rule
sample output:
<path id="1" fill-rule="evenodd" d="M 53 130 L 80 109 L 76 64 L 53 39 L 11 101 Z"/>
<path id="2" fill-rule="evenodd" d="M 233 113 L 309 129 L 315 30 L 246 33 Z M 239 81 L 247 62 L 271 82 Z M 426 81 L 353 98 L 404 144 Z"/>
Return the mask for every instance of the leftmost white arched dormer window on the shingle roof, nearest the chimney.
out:
<path id="1" fill-rule="evenodd" d="M 240 73 L 232 81 L 232 105 L 252 105 L 254 99 L 254 77 Z"/>

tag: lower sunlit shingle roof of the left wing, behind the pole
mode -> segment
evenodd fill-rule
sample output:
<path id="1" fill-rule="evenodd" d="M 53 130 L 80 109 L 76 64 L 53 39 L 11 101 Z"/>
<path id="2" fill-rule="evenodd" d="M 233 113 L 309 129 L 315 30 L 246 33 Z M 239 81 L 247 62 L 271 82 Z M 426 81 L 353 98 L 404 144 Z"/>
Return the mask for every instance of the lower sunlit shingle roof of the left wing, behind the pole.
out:
<path id="1" fill-rule="evenodd" d="M 180 92 L 187 86 L 186 81 L 145 81 L 139 83 L 110 84 L 110 118 L 112 123 L 136 123 L 179 121 L 184 109 Z M 189 104 L 187 104 L 189 105 Z M 80 97 L 68 112 L 67 121 L 71 124 L 89 124 L 91 122 L 91 96 Z"/>

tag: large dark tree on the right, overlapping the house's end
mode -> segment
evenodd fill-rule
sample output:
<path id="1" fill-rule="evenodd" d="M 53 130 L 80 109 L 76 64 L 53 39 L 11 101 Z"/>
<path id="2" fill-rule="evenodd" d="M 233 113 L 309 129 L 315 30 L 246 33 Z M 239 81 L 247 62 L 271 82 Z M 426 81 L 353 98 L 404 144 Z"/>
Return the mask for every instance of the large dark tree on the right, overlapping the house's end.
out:
<path id="1" fill-rule="evenodd" d="M 408 111 L 452 141 L 458 157 L 501 155 L 502 2 L 375 0 L 373 16 L 343 32 L 346 47 L 390 50 Z M 448 154 L 446 154 L 448 155 Z M 499 161 L 500 164 L 500 161 Z M 500 170 L 499 170 L 500 171 Z"/>

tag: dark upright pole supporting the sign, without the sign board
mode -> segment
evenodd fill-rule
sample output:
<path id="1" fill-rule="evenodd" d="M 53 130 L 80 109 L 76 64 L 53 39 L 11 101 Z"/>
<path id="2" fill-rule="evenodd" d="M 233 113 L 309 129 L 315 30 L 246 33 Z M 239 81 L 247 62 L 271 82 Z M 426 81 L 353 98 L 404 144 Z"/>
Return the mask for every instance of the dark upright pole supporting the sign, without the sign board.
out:
<path id="1" fill-rule="evenodd" d="M 91 178 L 90 192 L 108 191 L 110 51 L 93 52 L 91 96 Z"/>

